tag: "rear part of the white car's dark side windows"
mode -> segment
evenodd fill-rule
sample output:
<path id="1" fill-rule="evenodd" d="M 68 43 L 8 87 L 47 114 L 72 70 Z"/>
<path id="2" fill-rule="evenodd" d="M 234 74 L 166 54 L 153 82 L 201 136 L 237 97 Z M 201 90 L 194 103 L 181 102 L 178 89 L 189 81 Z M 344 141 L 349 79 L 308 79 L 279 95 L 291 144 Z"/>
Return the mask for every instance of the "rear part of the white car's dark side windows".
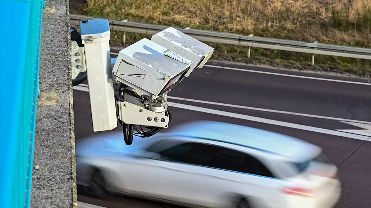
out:
<path id="1" fill-rule="evenodd" d="M 252 155 L 223 147 L 216 147 L 215 153 L 212 164 L 215 168 L 274 178 L 272 172 Z"/>

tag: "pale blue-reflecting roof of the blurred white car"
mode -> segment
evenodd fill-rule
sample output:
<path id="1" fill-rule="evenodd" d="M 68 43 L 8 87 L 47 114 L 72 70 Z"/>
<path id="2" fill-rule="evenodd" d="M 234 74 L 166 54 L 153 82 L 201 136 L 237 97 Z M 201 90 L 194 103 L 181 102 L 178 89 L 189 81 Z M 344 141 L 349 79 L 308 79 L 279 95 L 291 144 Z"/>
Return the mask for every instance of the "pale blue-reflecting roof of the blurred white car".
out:
<path id="1" fill-rule="evenodd" d="M 288 135 L 216 121 L 185 123 L 169 133 L 241 145 L 289 158 L 312 157 L 321 151 L 316 145 Z"/>

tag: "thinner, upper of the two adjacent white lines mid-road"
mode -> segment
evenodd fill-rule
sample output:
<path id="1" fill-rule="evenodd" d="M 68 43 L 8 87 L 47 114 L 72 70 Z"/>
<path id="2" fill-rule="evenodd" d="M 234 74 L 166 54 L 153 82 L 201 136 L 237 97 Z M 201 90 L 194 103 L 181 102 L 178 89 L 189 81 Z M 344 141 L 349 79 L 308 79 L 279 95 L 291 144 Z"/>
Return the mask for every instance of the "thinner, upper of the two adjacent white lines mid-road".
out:
<path id="1" fill-rule="evenodd" d="M 73 87 L 75 90 L 85 91 L 88 92 L 88 88 L 81 88 L 81 87 L 88 87 L 87 84 L 79 84 L 78 86 Z M 203 103 L 203 104 L 211 104 L 211 105 L 221 105 L 226 107 L 232 107 L 232 108 L 241 108 L 241 109 L 247 109 L 247 110 L 255 110 L 255 111 L 263 111 L 263 112 L 270 112 L 270 113 L 281 113 L 281 114 L 288 114 L 288 115 L 299 115 L 299 116 L 305 116 L 305 117 L 311 117 L 311 118 L 323 118 L 328 120 L 336 120 L 336 121 L 346 121 L 346 122 L 355 122 L 360 124 L 371 124 L 371 121 L 358 121 L 358 120 L 351 120 L 351 119 L 345 119 L 345 118 L 335 118 L 335 117 L 327 117 L 322 115 L 311 115 L 311 114 L 305 114 L 305 113 L 294 113 L 289 111 L 279 111 L 279 110 L 272 110 L 272 109 L 265 109 L 265 108 L 255 108 L 255 107 L 249 107 L 249 106 L 243 106 L 243 105 L 233 105 L 233 104 L 226 104 L 226 103 L 216 103 L 211 101 L 204 101 L 204 100 L 194 100 L 189 98 L 181 98 L 181 97 L 173 97 L 173 96 L 167 96 L 168 99 L 174 99 L 174 100 L 182 100 L 182 101 L 190 101 L 194 103 Z"/>

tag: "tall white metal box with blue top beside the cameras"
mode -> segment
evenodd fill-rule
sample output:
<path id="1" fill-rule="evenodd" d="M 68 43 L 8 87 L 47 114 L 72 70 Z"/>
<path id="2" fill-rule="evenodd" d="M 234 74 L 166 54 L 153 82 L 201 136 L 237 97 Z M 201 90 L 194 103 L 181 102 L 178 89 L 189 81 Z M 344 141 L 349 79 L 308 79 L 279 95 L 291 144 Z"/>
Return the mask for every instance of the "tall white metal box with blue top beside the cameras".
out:
<path id="1" fill-rule="evenodd" d="M 93 131 L 112 130 L 117 127 L 117 118 L 109 50 L 109 23 L 99 19 L 82 20 L 80 30 L 88 74 Z"/>

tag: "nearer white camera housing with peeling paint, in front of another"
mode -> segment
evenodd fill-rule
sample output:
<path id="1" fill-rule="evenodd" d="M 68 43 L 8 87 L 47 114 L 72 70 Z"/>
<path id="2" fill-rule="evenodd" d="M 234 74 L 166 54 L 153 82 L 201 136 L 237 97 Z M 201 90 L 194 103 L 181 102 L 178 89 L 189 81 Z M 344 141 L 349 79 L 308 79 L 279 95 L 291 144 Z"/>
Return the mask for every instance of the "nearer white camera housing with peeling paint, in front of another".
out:
<path id="1" fill-rule="evenodd" d="M 148 96 L 158 97 L 177 85 L 193 62 L 147 38 L 122 49 L 114 79 Z"/>

